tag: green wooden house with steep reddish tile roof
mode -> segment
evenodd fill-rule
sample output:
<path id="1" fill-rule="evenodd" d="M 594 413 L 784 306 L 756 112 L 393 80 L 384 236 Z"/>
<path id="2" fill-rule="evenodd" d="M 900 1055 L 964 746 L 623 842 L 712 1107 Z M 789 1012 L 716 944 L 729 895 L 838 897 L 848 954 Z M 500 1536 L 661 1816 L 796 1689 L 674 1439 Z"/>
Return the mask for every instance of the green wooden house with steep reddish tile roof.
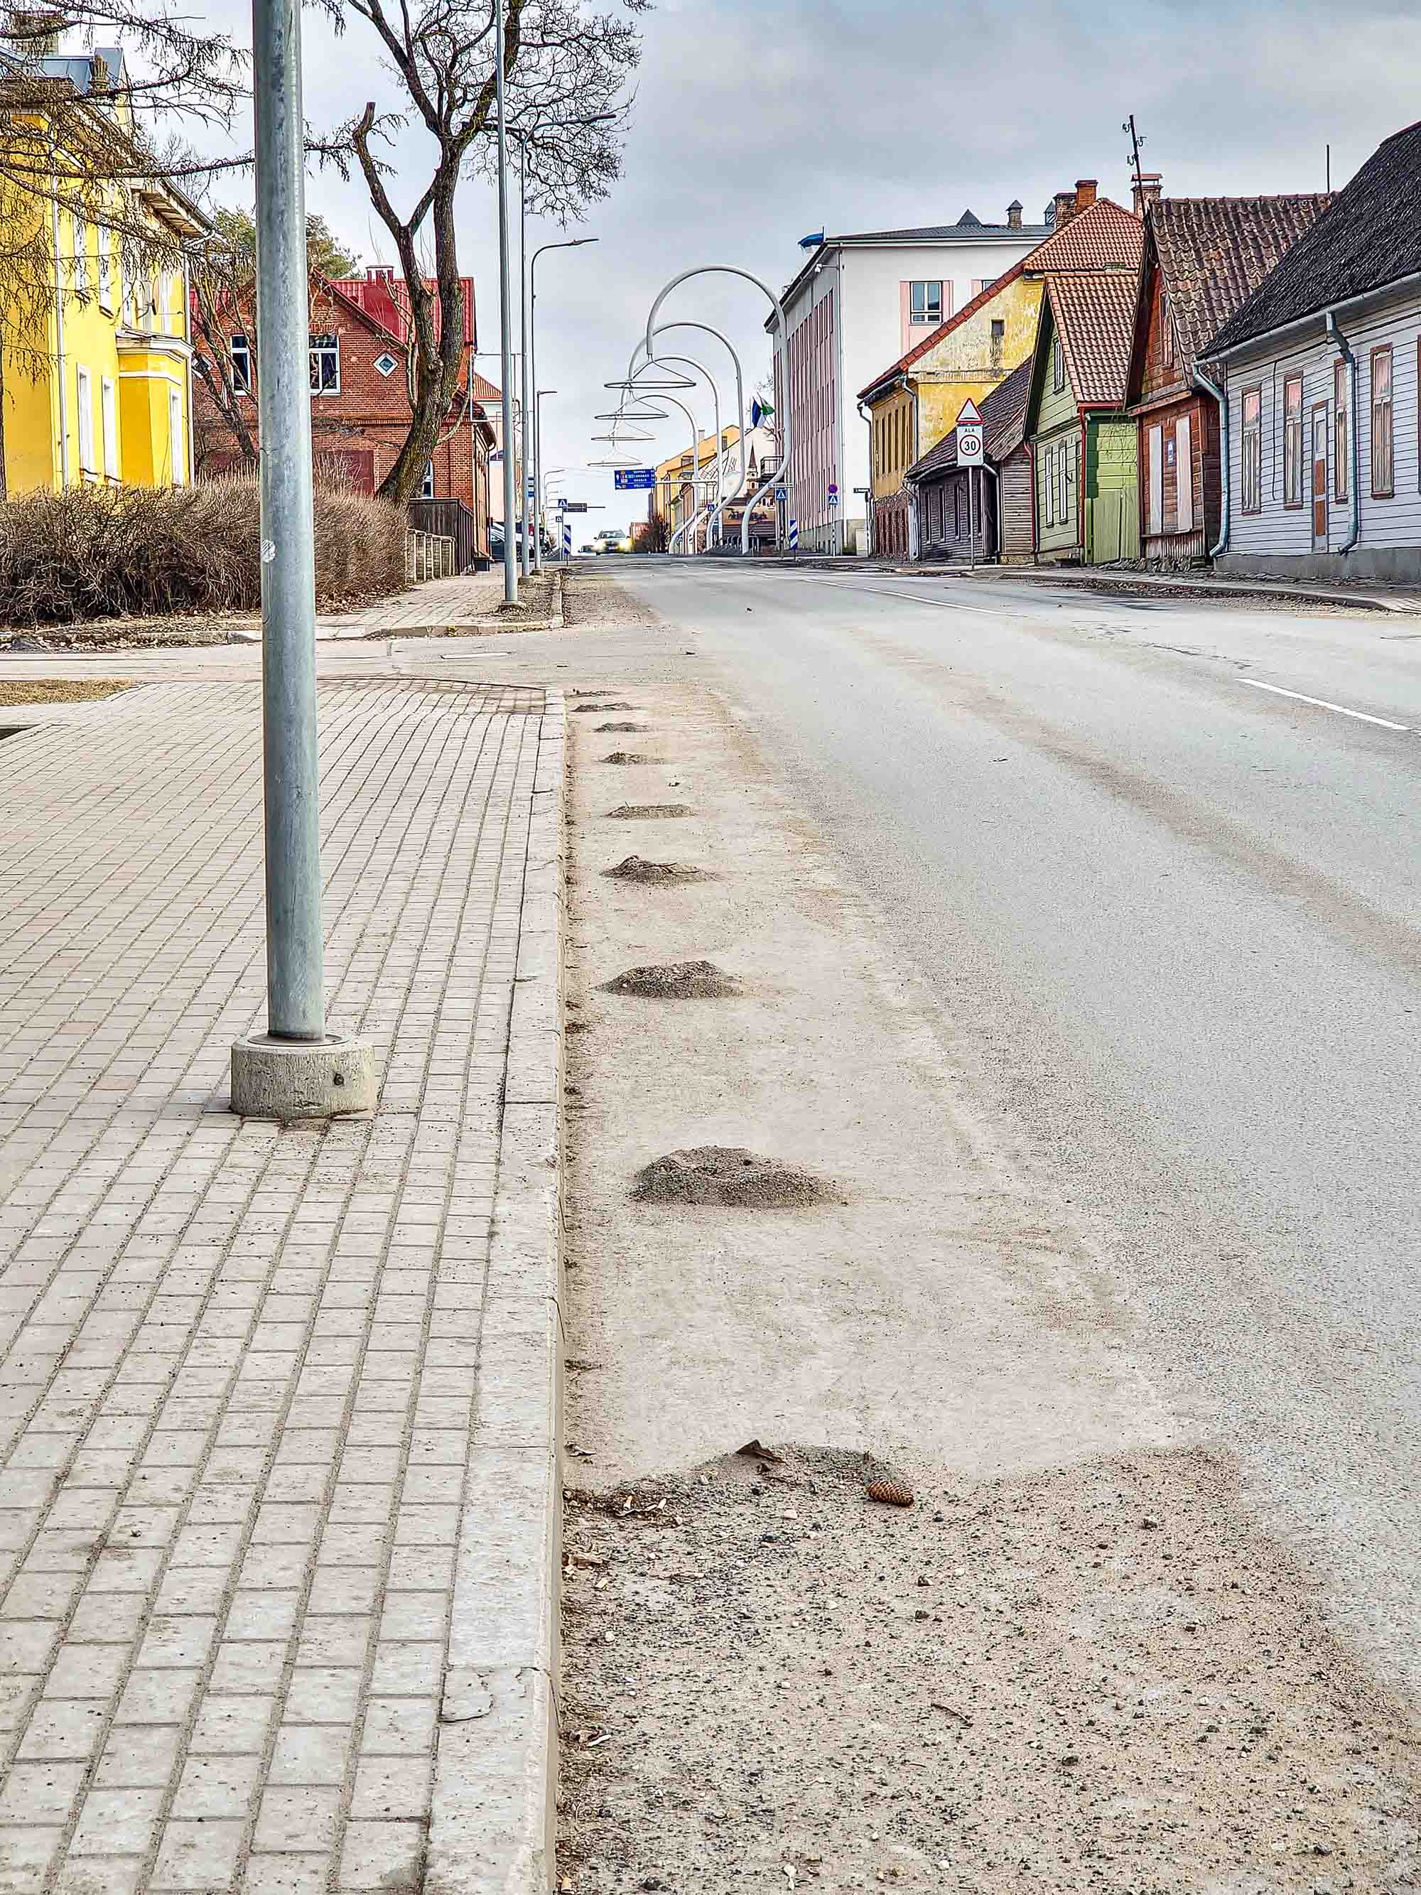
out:
<path id="1" fill-rule="evenodd" d="M 1125 269 L 1046 279 L 1027 404 L 1042 561 L 1139 559 L 1139 442 L 1124 413 L 1135 288 Z"/>

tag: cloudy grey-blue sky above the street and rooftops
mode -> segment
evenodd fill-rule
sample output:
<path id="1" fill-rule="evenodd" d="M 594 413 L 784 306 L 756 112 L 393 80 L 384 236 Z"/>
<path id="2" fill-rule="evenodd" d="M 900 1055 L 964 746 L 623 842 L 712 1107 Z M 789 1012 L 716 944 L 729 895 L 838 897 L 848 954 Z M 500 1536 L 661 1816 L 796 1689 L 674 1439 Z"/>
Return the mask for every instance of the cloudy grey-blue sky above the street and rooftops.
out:
<path id="1" fill-rule="evenodd" d="M 233 0 L 214 0 L 210 15 L 250 34 Z M 529 224 L 531 250 L 597 237 L 538 265 L 538 383 L 557 390 L 544 400 L 544 466 L 568 468 L 563 491 L 603 508 L 589 531 L 644 515 L 644 496 L 618 495 L 610 474 L 582 468 L 608 453 L 591 442 L 604 432 L 593 415 L 616 400 L 603 383 L 625 373 L 652 299 L 680 271 L 737 263 L 782 288 L 809 231 L 955 222 L 964 208 L 1004 222 L 1014 197 L 1038 222 L 1076 178 L 1097 178 L 1127 205 L 1129 112 L 1141 161 L 1163 174 L 1167 195 L 1322 190 L 1328 142 L 1336 188 L 1413 121 L 1421 99 L 1421 0 L 659 0 L 642 15 L 642 38 L 621 180 L 568 231 Z M 337 123 L 390 95 L 369 28 L 356 23 L 335 40 L 307 8 L 307 119 Z M 421 155 L 411 135 L 396 201 L 426 180 Z M 362 260 L 392 262 L 358 182 L 313 171 L 307 193 Z M 220 195 L 235 201 L 243 186 Z M 496 197 L 481 178 L 460 188 L 459 231 L 487 351 L 479 370 L 496 383 Z M 673 307 L 726 330 L 748 400 L 769 370 L 764 296 L 701 277 L 665 315 Z M 686 345 L 705 349 L 728 417 L 728 354 L 709 337 Z M 709 396 L 690 402 L 709 432 Z M 640 455 L 650 464 L 684 440 L 675 417 Z"/>

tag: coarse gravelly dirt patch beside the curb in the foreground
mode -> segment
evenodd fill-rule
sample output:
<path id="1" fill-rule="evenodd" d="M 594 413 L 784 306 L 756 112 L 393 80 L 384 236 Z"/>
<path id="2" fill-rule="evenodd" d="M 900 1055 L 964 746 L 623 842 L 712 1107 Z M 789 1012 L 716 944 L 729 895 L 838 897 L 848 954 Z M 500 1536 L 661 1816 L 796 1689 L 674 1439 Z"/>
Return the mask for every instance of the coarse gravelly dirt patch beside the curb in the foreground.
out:
<path id="1" fill-rule="evenodd" d="M 576 1895 L 1421 1884 L 1421 1730 L 1228 1465 L 936 1469 L 896 1508 L 892 1469 L 779 1455 L 568 1489 Z"/>

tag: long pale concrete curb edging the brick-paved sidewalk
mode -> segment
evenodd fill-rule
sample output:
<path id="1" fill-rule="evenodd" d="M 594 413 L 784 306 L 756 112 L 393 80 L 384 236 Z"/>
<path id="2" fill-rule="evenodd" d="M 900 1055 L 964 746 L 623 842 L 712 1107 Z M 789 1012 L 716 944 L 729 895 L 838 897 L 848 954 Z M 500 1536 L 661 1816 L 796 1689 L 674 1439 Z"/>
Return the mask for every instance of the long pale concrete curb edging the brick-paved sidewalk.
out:
<path id="1" fill-rule="evenodd" d="M 434 1766 L 426 1895 L 548 1895 L 563 1539 L 567 705 L 548 694 L 523 877 L 474 1442 Z"/>

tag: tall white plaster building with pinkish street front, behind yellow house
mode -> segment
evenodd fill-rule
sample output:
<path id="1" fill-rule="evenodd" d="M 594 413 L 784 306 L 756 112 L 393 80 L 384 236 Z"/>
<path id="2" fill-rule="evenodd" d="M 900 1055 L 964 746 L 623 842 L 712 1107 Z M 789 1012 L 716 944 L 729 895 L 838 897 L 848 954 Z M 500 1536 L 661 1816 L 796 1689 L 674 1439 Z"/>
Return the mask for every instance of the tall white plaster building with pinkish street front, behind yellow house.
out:
<path id="1" fill-rule="evenodd" d="M 854 392 L 1050 235 L 1053 210 L 1044 224 L 1023 224 L 1014 203 L 1006 224 L 964 210 L 926 229 L 805 239 L 805 263 L 781 298 L 788 387 L 775 364 L 777 415 L 790 424 L 786 512 L 801 551 L 862 551 L 868 426 Z M 773 316 L 765 328 L 773 334 Z"/>

